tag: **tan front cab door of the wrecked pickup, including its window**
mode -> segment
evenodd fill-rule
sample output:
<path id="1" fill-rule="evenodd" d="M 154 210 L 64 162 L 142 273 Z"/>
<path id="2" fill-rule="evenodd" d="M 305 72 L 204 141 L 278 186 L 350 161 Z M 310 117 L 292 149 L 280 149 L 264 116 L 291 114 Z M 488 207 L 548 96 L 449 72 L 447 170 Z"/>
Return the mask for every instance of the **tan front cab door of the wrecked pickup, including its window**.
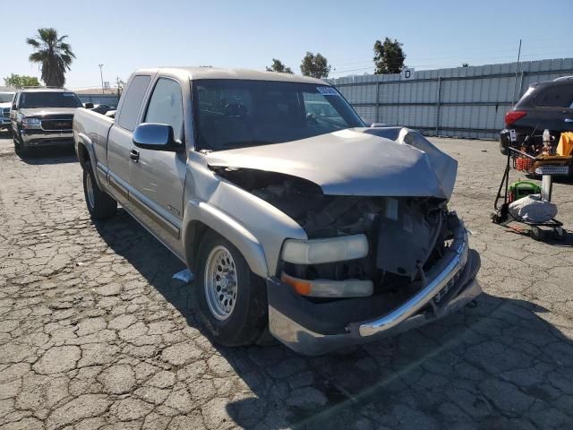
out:
<path id="1" fill-rule="evenodd" d="M 183 92 L 178 81 L 158 77 L 141 118 L 141 123 L 171 125 L 184 149 Z M 137 206 L 138 218 L 175 254 L 182 255 L 185 151 L 133 146 L 130 155 L 130 202 Z"/>

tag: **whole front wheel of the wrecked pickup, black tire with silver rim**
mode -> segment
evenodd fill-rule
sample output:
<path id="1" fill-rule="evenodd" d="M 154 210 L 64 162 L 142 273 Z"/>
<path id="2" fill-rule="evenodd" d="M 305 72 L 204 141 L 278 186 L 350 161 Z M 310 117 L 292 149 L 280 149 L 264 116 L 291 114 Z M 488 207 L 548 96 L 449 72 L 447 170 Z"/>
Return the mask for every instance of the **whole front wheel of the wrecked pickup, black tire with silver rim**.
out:
<path id="1" fill-rule="evenodd" d="M 201 240 L 193 301 L 210 337 L 220 345 L 252 345 L 268 325 L 264 281 L 235 245 L 214 231 Z"/>

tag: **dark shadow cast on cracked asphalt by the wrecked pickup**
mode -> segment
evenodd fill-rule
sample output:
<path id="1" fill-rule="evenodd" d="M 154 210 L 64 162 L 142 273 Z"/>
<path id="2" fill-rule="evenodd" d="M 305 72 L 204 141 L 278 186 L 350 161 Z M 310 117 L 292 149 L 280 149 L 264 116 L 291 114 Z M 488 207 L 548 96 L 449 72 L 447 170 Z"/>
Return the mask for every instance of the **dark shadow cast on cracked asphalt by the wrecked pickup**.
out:
<path id="1" fill-rule="evenodd" d="M 201 330 L 184 268 L 124 211 L 99 234 Z M 483 294 L 474 309 L 346 354 L 221 348 L 253 397 L 229 401 L 247 428 L 550 428 L 573 422 L 573 346 L 532 303 Z M 568 411 L 569 412 L 564 412 Z M 460 428 L 461 428 L 460 427 Z"/>

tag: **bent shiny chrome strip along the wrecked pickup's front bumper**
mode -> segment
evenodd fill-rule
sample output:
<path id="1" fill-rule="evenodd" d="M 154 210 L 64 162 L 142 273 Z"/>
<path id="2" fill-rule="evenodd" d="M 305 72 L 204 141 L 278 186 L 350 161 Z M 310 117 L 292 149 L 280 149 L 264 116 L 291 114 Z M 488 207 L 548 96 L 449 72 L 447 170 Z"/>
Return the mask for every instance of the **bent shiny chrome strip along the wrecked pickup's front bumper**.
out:
<path id="1" fill-rule="evenodd" d="M 392 327 L 402 323 L 407 318 L 417 313 L 423 306 L 427 305 L 448 282 L 456 276 L 458 271 L 464 268 L 467 261 L 467 232 L 461 221 L 454 232 L 454 241 L 449 246 L 446 255 L 427 274 L 428 284 L 422 288 L 414 297 L 411 297 L 403 305 L 394 311 L 372 321 L 361 323 L 358 328 L 360 336 L 372 336 L 387 331 Z"/>

